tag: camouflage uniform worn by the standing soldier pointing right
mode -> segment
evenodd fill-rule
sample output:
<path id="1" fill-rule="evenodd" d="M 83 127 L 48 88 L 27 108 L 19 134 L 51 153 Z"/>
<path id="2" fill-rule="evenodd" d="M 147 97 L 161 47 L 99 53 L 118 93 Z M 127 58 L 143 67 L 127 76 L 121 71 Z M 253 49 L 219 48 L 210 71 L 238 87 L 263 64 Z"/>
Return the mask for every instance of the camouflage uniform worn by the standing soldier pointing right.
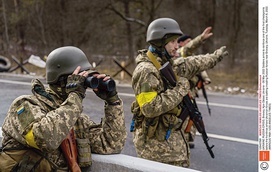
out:
<path id="1" fill-rule="evenodd" d="M 184 129 L 187 126 L 188 118 L 184 122 L 181 130 L 172 130 L 168 140 L 165 140 L 165 133 L 168 130 L 162 122 L 162 117 L 168 114 L 171 117 L 177 117 L 177 113 L 171 113 L 178 107 L 185 96 L 189 87 L 174 87 L 165 89 L 159 71 L 152 64 L 146 55 L 147 50 L 140 50 L 136 58 L 137 66 L 133 72 L 132 87 L 135 95 L 139 95 L 145 90 L 157 92 L 157 96 L 142 107 L 137 102 L 132 104 L 132 112 L 142 121 L 135 126 L 133 132 L 133 142 L 137 156 L 149 160 L 159 161 L 167 164 L 188 167 L 190 162 L 190 150 L 184 137 Z M 162 64 L 165 63 L 160 57 L 157 60 Z M 221 57 L 215 54 L 199 55 L 189 58 L 177 58 L 173 63 L 173 69 L 178 76 L 191 79 L 195 74 L 212 68 L 216 65 Z M 147 89 L 145 89 L 145 87 Z M 143 116 L 143 117 L 141 117 Z M 156 123 L 154 134 L 149 137 L 145 130 L 144 124 L 146 119 L 155 119 Z M 162 138 L 162 139 L 161 139 Z"/>

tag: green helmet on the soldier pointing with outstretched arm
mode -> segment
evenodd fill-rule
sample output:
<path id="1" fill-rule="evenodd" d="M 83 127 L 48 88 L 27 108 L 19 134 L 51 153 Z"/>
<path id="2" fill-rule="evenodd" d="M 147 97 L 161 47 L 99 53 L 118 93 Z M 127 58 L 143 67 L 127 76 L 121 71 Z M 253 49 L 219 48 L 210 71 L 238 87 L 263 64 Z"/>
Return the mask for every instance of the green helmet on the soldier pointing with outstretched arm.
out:
<path id="1" fill-rule="evenodd" d="M 180 36 L 182 31 L 178 23 L 171 18 L 159 18 L 152 21 L 147 30 L 147 42 L 156 43 L 170 36 Z M 165 37 L 168 36 L 168 37 Z"/>

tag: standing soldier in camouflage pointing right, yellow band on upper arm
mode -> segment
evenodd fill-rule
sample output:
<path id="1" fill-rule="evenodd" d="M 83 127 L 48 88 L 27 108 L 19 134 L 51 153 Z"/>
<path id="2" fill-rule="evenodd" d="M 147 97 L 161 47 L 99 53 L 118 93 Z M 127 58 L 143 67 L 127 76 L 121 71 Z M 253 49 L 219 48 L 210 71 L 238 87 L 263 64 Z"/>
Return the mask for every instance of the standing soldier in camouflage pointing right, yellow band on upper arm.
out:
<path id="1" fill-rule="evenodd" d="M 190 149 L 184 137 L 188 120 L 181 126 L 179 105 L 189 92 L 188 79 L 214 67 L 228 52 L 222 47 L 213 54 L 173 60 L 177 38 L 182 34 L 171 18 L 156 19 L 148 26 L 146 39 L 150 46 L 138 51 L 132 77 L 136 100 L 131 107 L 131 131 L 138 157 L 189 167 Z M 176 86 L 169 89 L 158 70 L 168 61 L 178 76 Z"/>

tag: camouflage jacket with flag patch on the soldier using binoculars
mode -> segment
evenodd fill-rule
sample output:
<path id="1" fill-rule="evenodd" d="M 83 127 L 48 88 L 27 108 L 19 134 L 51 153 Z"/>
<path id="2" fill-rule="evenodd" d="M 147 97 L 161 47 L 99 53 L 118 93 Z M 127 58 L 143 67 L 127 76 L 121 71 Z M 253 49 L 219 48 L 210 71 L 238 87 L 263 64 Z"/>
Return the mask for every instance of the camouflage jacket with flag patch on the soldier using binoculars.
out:
<path id="1" fill-rule="evenodd" d="M 77 138 L 89 139 L 93 153 L 120 153 L 123 149 L 126 129 L 121 100 L 120 105 L 105 105 L 105 117 L 96 124 L 82 114 L 82 99 L 76 93 L 62 101 L 50 88 L 45 90 L 39 80 L 32 81 L 32 92 L 33 95 L 16 98 L 4 120 L 2 147 L 10 156 L 16 150 L 36 148 L 55 166 L 67 169 L 59 146 L 73 127 L 78 129 Z M 20 161 L 22 157 L 12 158 Z M 53 164 L 50 166 L 54 168 Z M 36 171 L 39 169 L 43 167 Z"/>

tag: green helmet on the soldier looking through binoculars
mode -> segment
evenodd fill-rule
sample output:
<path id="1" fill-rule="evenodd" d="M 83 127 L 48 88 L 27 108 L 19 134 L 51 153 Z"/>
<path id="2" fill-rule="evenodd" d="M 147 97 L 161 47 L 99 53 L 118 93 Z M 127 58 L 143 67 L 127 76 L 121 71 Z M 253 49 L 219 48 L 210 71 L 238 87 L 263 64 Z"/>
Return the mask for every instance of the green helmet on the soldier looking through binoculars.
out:
<path id="1" fill-rule="evenodd" d="M 60 76 L 72 74 L 78 66 L 81 67 L 81 71 L 92 68 L 82 50 L 73 46 L 57 48 L 46 60 L 46 82 L 54 84 Z"/>

